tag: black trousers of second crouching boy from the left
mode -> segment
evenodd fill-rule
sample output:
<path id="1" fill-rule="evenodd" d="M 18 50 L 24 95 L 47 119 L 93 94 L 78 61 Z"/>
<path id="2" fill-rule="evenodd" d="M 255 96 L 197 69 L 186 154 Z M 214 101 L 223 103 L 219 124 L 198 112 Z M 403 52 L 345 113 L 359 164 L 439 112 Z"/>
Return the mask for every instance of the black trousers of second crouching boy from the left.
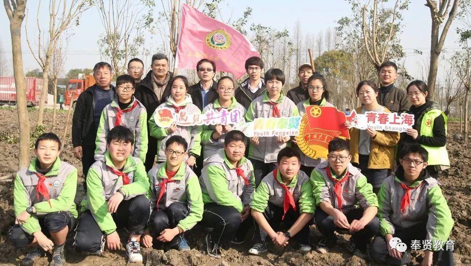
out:
<path id="1" fill-rule="evenodd" d="M 139 195 L 127 201 L 122 201 L 118 206 L 118 211 L 113 213 L 112 216 L 117 228 L 124 227 L 130 234 L 138 235 L 144 233 L 149 214 L 149 200 L 146 196 Z M 74 249 L 82 252 L 96 252 L 100 250 L 104 237 L 90 210 L 83 212 L 78 218 L 78 225 L 75 230 Z"/>

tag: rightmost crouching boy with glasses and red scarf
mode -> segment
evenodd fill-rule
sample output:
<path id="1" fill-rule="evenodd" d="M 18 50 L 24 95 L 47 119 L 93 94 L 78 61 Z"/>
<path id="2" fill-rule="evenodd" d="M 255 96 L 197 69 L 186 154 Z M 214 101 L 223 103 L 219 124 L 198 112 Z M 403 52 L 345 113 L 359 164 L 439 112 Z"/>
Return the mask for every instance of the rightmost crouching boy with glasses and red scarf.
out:
<path id="1" fill-rule="evenodd" d="M 378 193 L 381 229 L 371 245 L 370 257 L 383 264 L 409 264 L 411 248 L 427 249 L 422 244 L 425 240 L 430 245 L 422 266 L 455 265 L 453 250 L 444 246 L 453 218 L 437 180 L 426 169 L 428 152 L 415 143 L 404 145 L 398 157 L 400 165 L 395 175 L 383 182 Z M 401 239 L 407 251 L 392 247 L 393 238 Z"/>

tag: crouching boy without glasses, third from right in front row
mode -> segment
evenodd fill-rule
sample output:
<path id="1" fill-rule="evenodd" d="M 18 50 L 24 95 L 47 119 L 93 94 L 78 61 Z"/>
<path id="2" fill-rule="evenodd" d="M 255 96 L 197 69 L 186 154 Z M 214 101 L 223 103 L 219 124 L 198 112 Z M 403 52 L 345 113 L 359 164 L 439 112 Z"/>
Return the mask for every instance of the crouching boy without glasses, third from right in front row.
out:
<path id="1" fill-rule="evenodd" d="M 299 170 L 299 153 L 291 147 L 278 153 L 277 163 L 278 167 L 262 179 L 252 194 L 250 208 L 257 223 L 250 254 L 266 252 L 267 237 L 282 247 L 293 237 L 300 251 L 311 250 L 309 222 L 315 205 L 309 176 Z M 280 228 L 282 221 L 289 228 L 284 232 Z"/>

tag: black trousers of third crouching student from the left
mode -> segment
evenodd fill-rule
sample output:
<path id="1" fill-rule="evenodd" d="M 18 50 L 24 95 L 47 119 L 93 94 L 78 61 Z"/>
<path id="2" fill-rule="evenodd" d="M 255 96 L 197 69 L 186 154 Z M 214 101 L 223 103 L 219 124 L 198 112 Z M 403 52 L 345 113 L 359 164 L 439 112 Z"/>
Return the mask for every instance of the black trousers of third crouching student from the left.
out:
<path id="1" fill-rule="evenodd" d="M 188 206 L 186 203 L 174 202 L 167 210 L 157 210 L 150 214 L 149 226 L 152 233 L 155 236 L 159 236 L 160 233 L 167 228 L 175 228 L 180 220 L 186 218 L 189 214 Z M 168 243 L 170 247 L 174 247 L 181 242 L 183 233 L 178 234 Z M 154 238 L 155 239 L 155 238 Z M 157 241 L 157 240 L 156 240 Z"/>

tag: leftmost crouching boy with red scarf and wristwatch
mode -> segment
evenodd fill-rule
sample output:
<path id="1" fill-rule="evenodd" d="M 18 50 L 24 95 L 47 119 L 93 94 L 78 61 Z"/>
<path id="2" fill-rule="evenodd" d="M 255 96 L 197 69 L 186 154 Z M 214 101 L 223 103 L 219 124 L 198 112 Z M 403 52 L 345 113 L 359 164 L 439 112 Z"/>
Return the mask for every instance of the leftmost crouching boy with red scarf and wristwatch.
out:
<path id="1" fill-rule="evenodd" d="M 77 210 L 75 192 L 77 169 L 59 159 L 60 140 L 54 133 L 39 136 L 34 145 L 35 159 L 18 171 L 13 189 L 15 224 L 9 238 L 15 248 L 33 248 L 22 265 L 53 253 L 51 265 L 64 265 L 64 243 L 74 229 Z M 50 239 L 50 238 L 52 239 Z"/>

